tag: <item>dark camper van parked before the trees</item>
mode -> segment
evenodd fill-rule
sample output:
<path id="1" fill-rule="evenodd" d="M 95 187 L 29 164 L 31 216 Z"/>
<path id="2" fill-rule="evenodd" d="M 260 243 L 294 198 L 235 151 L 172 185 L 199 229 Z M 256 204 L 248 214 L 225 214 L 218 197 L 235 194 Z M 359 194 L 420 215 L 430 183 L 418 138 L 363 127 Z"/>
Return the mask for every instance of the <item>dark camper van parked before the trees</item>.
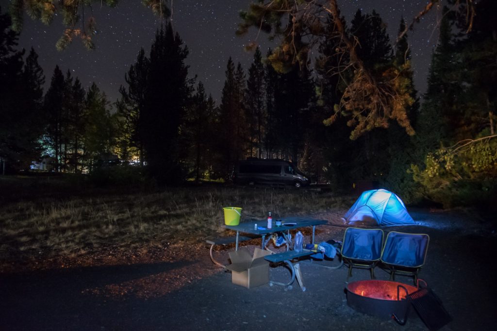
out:
<path id="1" fill-rule="evenodd" d="M 278 159 L 239 161 L 233 172 L 236 184 L 281 184 L 296 188 L 309 185 L 309 178 L 291 162 Z"/>

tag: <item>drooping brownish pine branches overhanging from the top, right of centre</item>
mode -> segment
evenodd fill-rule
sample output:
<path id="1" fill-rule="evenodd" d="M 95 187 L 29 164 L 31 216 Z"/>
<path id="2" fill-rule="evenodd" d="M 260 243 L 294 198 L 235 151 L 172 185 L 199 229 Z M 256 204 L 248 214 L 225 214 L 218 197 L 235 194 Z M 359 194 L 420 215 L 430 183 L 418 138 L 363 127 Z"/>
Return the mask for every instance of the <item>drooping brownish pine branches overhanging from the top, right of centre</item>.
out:
<path id="1" fill-rule="evenodd" d="M 424 8 L 414 17 L 411 25 L 399 35 L 402 39 L 408 28 L 412 28 L 420 18 L 428 13 L 436 3 L 442 0 L 429 0 Z M 468 28 L 471 28 L 473 21 L 473 0 L 457 0 L 456 4 L 465 2 L 468 6 Z M 307 65 L 307 53 L 312 45 L 315 45 L 324 36 L 324 20 L 327 13 L 331 17 L 333 28 L 331 33 L 340 38 L 342 45 L 337 48 L 337 53 L 347 54 L 348 62 L 343 68 L 347 74 L 339 73 L 343 76 L 351 76 L 346 82 L 343 97 L 339 107 L 334 110 L 334 114 L 325 124 L 333 123 L 337 116 L 342 113 L 351 116 L 348 125 L 353 127 L 351 138 L 355 139 L 364 132 L 374 128 L 387 128 L 389 120 L 394 120 L 402 126 L 408 134 L 414 134 L 406 109 L 413 105 L 414 99 L 406 88 L 406 74 L 410 72 L 410 64 L 406 62 L 403 66 L 382 65 L 377 68 L 365 66 L 363 59 L 357 53 L 357 39 L 349 35 L 341 19 L 338 8 L 338 0 L 272 0 L 257 1 L 250 5 L 247 12 L 242 12 L 242 23 L 239 25 L 239 34 L 248 31 L 253 26 L 264 32 L 272 33 L 274 36 L 281 36 L 282 41 L 277 47 L 269 62 L 280 72 L 298 62 L 301 66 Z M 285 27 L 281 28 L 282 22 Z M 296 36 L 299 36 L 297 39 Z M 305 42 L 302 36 L 306 36 Z M 252 47 L 255 43 L 250 44 Z"/>

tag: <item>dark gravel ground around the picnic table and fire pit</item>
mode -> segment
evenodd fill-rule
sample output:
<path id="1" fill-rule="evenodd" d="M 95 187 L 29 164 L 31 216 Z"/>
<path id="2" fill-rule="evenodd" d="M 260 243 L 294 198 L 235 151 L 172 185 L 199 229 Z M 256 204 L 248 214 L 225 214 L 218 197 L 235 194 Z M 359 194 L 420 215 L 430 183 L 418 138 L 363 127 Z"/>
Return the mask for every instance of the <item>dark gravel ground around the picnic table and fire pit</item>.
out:
<path id="1" fill-rule="evenodd" d="M 317 242 L 341 240 L 345 210 L 311 215 L 327 219 Z M 420 272 L 453 321 L 449 330 L 495 330 L 495 229 L 463 211 L 410 210 L 416 224 L 386 227 L 427 233 L 430 244 Z M 258 247 L 245 242 L 249 251 Z M 226 261 L 233 247 L 215 252 Z M 330 262 L 331 265 L 336 261 Z M 295 283 L 246 289 L 212 264 L 204 240 L 163 243 L 72 260 L 3 265 L 0 273 L 0 330 L 427 330 L 417 317 L 405 326 L 358 313 L 347 306 L 347 269 L 301 263 L 303 292 Z M 388 273 L 375 269 L 377 279 Z M 284 267 L 270 278 L 286 281 Z M 354 269 L 350 281 L 369 279 Z M 411 284 L 411 278 L 397 281 Z"/>

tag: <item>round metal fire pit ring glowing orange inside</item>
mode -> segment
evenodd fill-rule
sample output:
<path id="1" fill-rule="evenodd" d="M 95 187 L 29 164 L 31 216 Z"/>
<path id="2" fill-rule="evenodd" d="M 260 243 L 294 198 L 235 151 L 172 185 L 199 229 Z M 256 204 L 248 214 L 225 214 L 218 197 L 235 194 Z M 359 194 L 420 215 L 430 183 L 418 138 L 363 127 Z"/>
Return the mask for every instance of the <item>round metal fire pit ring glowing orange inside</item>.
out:
<path id="1" fill-rule="evenodd" d="M 391 319 L 393 314 L 404 317 L 411 304 L 406 297 L 417 290 L 415 286 L 389 280 L 354 281 L 346 286 L 347 305 L 382 319 Z"/>

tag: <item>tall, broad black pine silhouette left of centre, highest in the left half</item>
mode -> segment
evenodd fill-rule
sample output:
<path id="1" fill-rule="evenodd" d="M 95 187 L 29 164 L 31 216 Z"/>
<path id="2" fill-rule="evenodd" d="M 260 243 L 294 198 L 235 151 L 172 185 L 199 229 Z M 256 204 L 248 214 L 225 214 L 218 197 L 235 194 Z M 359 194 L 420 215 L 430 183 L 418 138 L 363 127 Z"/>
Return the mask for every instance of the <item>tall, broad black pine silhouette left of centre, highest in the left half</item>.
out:
<path id="1" fill-rule="evenodd" d="M 168 23 L 156 33 L 150 51 L 145 104 L 140 114 L 140 136 L 149 170 L 160 184 L 184 178 L 187 146 L 180 127 L 192 91 L 185 59 L 188 49 Z"/>

